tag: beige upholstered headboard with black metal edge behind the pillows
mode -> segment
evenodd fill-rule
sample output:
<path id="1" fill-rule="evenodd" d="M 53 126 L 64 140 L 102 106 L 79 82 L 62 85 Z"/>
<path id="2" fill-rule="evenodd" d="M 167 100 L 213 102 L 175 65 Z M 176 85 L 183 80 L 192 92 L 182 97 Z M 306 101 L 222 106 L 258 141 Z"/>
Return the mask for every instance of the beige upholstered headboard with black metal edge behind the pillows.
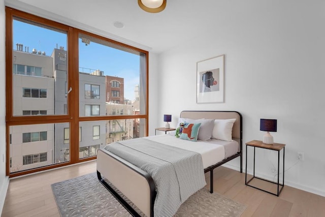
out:
<path id="1" fill-rule="evenodd" d="M 242 143 L 242 115 L 237 111 L 182 111 L 180 117 L 191 119 L 230 119 L 236 118 L 233 126 L 233 138 Z"/>

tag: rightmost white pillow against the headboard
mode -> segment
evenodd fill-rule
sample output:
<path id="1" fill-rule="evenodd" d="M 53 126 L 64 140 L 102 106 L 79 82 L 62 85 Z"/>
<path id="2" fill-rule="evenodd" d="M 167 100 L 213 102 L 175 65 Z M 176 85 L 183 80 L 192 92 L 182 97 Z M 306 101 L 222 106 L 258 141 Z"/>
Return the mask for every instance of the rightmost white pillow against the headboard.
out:
<path id="1" fill-rule="evenodd" d="M 224 141 L 233 141 L 233 126 L 236 118 L 233 119 L 216 119 L 212 131 L 212 138 Z"/>

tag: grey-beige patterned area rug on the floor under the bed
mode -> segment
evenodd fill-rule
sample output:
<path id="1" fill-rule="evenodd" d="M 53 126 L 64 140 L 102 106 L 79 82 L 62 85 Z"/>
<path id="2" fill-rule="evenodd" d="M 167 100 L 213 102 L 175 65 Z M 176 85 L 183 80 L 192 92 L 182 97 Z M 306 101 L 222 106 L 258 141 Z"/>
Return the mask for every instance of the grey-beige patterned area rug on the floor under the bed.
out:
<path id="1" fill-rule="evenodd" d="M 99 182 L 96 173 L 51 186 L 61 216 L 132 216 Z M 130 205 L 144 216 L 132 203 Z M 240 216 L 245 208 L 203 188 L 188 198 L 174 216 Z"/>

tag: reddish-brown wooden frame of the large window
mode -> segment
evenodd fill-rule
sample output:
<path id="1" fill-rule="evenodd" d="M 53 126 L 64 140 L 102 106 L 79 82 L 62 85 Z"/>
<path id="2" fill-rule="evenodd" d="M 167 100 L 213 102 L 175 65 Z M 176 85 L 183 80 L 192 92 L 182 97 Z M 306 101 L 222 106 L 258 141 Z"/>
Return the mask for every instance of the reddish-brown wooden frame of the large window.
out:
<path id="1" fill-rule="evenodd" d="M 39 172 L 43 170 L 58 168 L 67 165 L 73 165 L 76 163 L 81 163 L 85 161 L 90 161 L 96 159 L 96 156 L 79 159 L 79 135 L 70 135 L 70 161 L 62 162 L 58 164 L 52 164 L 45 167 L 19 171 L 15 173 L 10 173 L 10 126 L 19 125 L 38 125 L 44 123 L 69 123 L 70 132 L 79 132 L 79 122 L 82 121 L 96 121 L 96 120 L 117 120 L 117 119 L 135 119 L 143 118 L 145 119 L 145 136 L 148 135 L 148 111 L 149 111 L 149 70 L 148 70 L 148 59 L 149 52 L 142 50 L 133 46 L 123 44 L 121 42 L 116 42 L 114 40 L 98 36 L 84 30 L 71 27 L 65 24 L 58 23 L 43 17 L 32 15 L 20 10 L 16 10 L 10 7 L 6 7 L 6 175 L 9 177 L 15 177 L 20 175 L 25 175 L 28 173 Z M 68 84 L 69 88 L 72 87 L 73 91 L 68 95 L 68 114 L 62 115 L 35 115 L 35 116 L 14 116 L 13 115 L 13 19 L 17 17 L 20 19 L 28 20 L 31 22 L 39 23 L 42 25 L 50 26 L 56 29 L 61 29 L 67 32 L 67 63 L 68 63 Z M 145 111 L 144 114 L 132 114 L 132 115 L 114 115 L 114 116 L 79 116 L 79 49 L 78 41 L 79 34 L 85 34 L 100 40 L 104 40 L 118 47 L 124 47 L 137 52 L 142 53 L 146 56 L 145 66 L 145 76 L 146 76 L 146 89 L 145 89 Z M 70 72 L 70 73 L 69 73 Z M 71 73 L 78 72 L 78 73 Z"/>

